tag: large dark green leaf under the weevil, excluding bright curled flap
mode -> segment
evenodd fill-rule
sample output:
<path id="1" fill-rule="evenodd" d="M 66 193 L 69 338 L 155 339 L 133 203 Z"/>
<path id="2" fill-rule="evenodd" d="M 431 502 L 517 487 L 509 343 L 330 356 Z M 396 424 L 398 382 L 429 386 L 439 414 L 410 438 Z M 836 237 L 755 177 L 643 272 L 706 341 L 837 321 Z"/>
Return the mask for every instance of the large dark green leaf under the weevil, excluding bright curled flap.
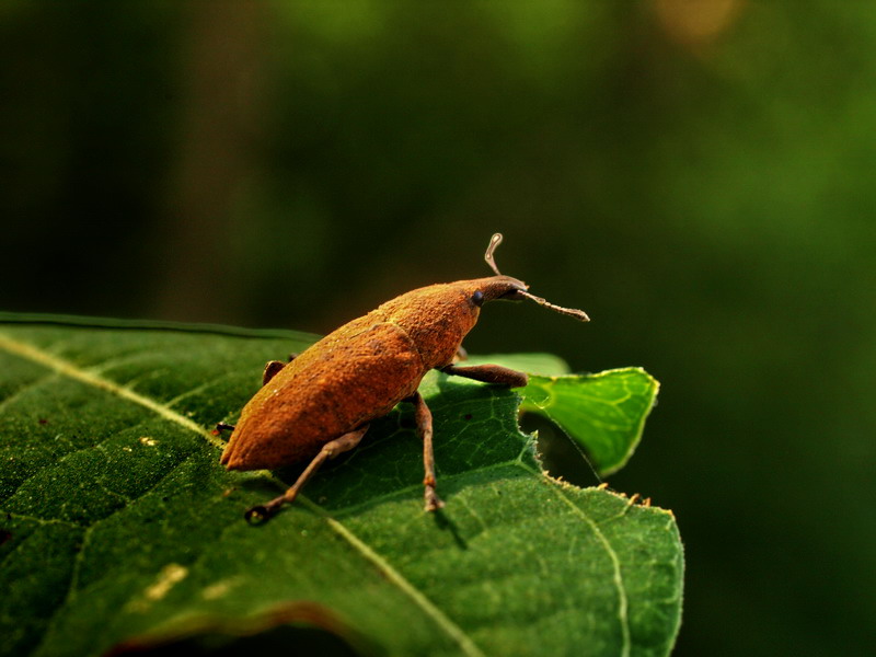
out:
<path id="1" fill-rule="evenodd" d="M 320 627 L 361 654 L 671 648 L 683 568 L 671 512 L 546 477 L 512 391 L 424 381 L 443 511 L 422 510 L 422 448 L 401 404 L 252 527 L 243 510 L 297 471 L 229 473 L 209 427 L 233 422 L 266 360 L 312 336 L 0 320 L 2 654 L 275 625 L 297 647 Z"/>

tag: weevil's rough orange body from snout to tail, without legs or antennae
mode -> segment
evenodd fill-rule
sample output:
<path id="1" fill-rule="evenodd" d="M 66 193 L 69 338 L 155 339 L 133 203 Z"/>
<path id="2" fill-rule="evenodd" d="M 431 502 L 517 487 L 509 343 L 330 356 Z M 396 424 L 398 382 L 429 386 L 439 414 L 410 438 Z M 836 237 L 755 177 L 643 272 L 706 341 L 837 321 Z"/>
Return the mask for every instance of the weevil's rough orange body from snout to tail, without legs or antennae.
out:
<path id="1" fill-rule="evenodd" d="M 262 470 L 313 458 L 414 395 L 426 372 L 452 362 L 480 306 L 520 289 L 526 284 L 509 276 L 433 285 L 344 324 L 252 397 L 221 462 L 229 470 Z"/>

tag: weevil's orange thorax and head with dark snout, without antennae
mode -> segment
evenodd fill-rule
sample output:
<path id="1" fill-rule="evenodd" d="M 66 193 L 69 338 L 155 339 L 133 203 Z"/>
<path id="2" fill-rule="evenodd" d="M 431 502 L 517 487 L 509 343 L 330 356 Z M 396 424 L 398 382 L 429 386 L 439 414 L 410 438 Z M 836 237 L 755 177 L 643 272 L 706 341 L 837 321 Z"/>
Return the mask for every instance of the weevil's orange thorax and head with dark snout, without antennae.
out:
<path id="1" fill-rule="evenodd" d="M 518 289 L 526 284 L 509 276 L 458 280 L 413 290 L 378 310 L 405 331 L 430 369 L 453 360 L 484 301 L 508 298 Z"/>

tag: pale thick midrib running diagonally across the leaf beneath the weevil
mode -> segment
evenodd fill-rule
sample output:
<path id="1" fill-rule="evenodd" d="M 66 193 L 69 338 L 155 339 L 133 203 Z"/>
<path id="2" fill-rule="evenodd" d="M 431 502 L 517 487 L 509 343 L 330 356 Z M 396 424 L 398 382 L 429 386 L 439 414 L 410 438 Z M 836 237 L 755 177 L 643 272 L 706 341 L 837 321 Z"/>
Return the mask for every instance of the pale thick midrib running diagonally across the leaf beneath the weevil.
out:
<path id="1" fill-rule="evenodd" d="M 224 447 L 224 442 L 215 437 L 209 430 L 201 427 L 197 423 L 192 422 L 189 418 L 176 413 L 175 411 L 172 411 L 166 405 L 160 404 L 154 400 L 141 395 L 129 388 L 119 385 L 114 381 L 104 379 L 103 377 L 96 376 L 88 370 L 83 370 L 69 360 L 59 358 L 53 354 L 48 354 L 32 344 L 20 342 L 8 334 L 0 332 L 0 348 L 15 356 L 43 365 L 44 367 L 51 369 L 61 376 L 74 379 L 101 390 L 105 390 L 129 402 L 139 404 L 163 417 L 164 419 L 176 423 L 187 430 L 198 434 L 215 447 L 219 449 Z M 274 479 L 273 475 L 266 471 L 263 471 L 261 474 L 263 476 Z M 280 483 L 280 485 L 283 484 Z M 422 591 L 419 591 L 414 585 L 405 579 L 401 573 L 393 568 L 385 558 L 371 550 L 361 539 L 359 539 L 342 522 L 333 518 L 316 503 L 303 495 L 299 495 L 298 499 L 312 510 L 316 511 L 326 521 L 332 531 L 343 538 L 350 546 L 359 552 L 359 554 L 361 554 L 366 561 L 371 563 L 378 570 L 380 570 L 387 577 L 387 579 L 389 579 L 403 593 L 410 597 L 417 604 L 417 607 L 420 608 L 423 613 L 429 616 L 442 632 L 450 636 L 460 646 L 465 655 L 469 655 L 470 657 L 485 657 L 485 654 L 475 645 L 471 637 L 469 637 L 459 625 L 451 621 L 438 607 L 435 606 L 435 603 L 431 602 L 431 600 L 429 600 Z M 88 529 L 85 532 L 88 533 Z M 77 555 L 77 560 L 81 558 L 83 552 L 84 541 L 83 549 Z M 71 581 L 71 587 L 73 583 Z M 68 598 L 71 591 L 72 588 L 70 591 L 68 591 Z"/>

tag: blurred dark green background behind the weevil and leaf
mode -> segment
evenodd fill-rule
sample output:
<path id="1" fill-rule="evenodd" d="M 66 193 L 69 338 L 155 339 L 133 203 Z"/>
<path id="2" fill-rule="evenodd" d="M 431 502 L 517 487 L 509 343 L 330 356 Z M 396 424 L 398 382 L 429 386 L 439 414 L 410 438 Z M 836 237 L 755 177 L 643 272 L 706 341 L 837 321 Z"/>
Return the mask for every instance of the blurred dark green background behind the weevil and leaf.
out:
<path id="1" fill-rule="evenodd" d="M 5 0 L 0 308 L 325 333 L 500 230 L 592 322 L 469 350 L 662 383 L 610 484 L 677 515 L 676 654 L 860 655 L 874 53 L 866 2 Z"/>

